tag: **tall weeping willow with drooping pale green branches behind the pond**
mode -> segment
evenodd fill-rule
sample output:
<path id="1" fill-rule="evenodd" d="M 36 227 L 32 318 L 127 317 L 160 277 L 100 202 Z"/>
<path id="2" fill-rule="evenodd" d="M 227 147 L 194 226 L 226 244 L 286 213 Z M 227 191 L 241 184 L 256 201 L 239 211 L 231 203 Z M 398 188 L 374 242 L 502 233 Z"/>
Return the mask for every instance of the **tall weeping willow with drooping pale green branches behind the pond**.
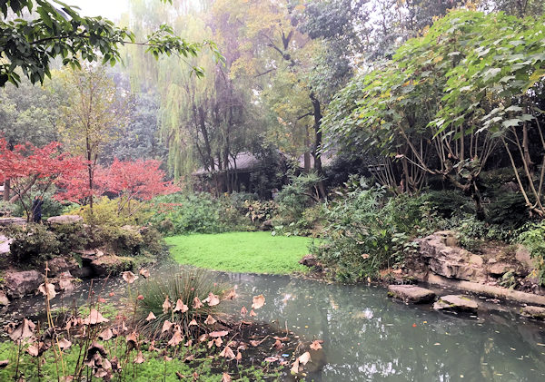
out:
<path id="1" fill-rule="evenodd" d="M 138 28 L 145 31 L 149 27 L 146 20 L 166 19 L 189 38 L 213 39 L 224 55 L 220 61 L 215 52 L 182 60 L 164 57 L 152 73 L 160 99 L 161 137 L 168 146 L 168 163 L 174 176 L 189 175 L 201 167 L 213 174 L 218 188 L 231 191 L 237 154 L 253 146 L 253 132 L 260 130 L 260 118 L 250 118 L 255 115 L 250 102 L 252 89 L 233 83 L 230 73 L 238 54 L 236 40 L 228 36 L 230 31 L 223 28 L 221 19 L 211 19 L 205 12 L 208 2 L 189 8 L 175 2 L 177 11 L 169 13 L 157 8 L 143 12 L 142 6 L 146 5 L 138 5 L 138 12 L 131 15 L 131 23 L 139 24 Z M 143 56 L 136 52 L 130 57 Z M 198 78 L 193 67 L 201 68 L 206 75 Z"/>

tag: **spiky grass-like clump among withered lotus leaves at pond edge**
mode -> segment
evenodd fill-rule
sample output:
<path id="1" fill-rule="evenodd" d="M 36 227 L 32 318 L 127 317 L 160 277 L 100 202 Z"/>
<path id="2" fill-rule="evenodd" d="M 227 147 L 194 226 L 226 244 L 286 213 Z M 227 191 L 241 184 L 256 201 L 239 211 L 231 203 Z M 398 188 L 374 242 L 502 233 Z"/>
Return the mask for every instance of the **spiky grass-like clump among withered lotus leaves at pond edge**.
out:
<path id="1" fill-rule="evenodd" d="M 215 295 L 223 293 L 222 286 L 213 282 L 213 279 L 202 269 L 183 269 L 181 272 L 166 275 L 162 279 L 150 279 L 142 284 L 141 293 L 144 299 L 137 301 L 136 319 L 140 321 L 143 330 L 152 337 L 160 335 L 163 322 L 169 320 L 180 325 L 183 335 L 191 338 L 190 321 L 197 317 L 205 319 L 217 310 L 217 306 L 210 307 L 205 303 L 200 309 L 195 309 L 193 306 L 195 297 L 203 301 L 211 292 Z M 163 313 L 163 303 L 166 298 L 173 306 L 178 299 L 181 299 L 189 310 L 184 313 L 172 310 Z M 145 318 L 150 312 L 153 312 L 156 318 L 148 322 Z"/>

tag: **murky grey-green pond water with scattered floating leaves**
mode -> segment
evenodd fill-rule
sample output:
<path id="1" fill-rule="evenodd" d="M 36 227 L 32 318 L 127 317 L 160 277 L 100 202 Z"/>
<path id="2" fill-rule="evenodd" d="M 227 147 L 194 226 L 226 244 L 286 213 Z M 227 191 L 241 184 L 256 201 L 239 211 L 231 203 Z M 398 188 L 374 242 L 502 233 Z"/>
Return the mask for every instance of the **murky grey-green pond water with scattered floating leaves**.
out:
<path id="1" fill-rule="evenodd" d="M 173 267 L 153 273 L 162 275 Z M 301 338 L 324 341 L 324 366 L 314 380 L 545 380 L 545 325 L 514 313 L 484 311 L 479 318 L 458 317 L 429 306 L 393 302 L 376 286 L 221 272 L 211 276 L 238 286 L 239 299 L 226 308 L 232 313 L 243 305 L 249 309 L 252 296 L 263 294 L 266 303 L 257 318 L 280 328 L 287 325 Z M 142 278 L 134 288 L 139 281 Z M 75 296 L 84 299 L 88 287 Z M 119 279 L 94 284 L 97 293 L 113 302 L 124 288 Z M 108 297 L 111 290 L 114 298 Z M 64 305 L 70 305 L 68 300 Z M 40 301 L 22 300 L 17 311 L 39 310 Z"/>

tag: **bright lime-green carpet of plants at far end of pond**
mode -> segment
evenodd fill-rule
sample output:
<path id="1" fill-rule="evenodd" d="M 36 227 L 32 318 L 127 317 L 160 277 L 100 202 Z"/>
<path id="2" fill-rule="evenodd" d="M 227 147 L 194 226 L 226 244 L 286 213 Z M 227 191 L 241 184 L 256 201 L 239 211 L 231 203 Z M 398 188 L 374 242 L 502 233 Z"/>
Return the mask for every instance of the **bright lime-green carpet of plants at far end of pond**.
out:
<path id="1" fill-rule="evenodd" d="M 227 232 L 166 238 L 180 264 L 233 272 L 288 274 L 304 270 L 298 263 L 312 239 L 271 236 L 270 232 Z"/>

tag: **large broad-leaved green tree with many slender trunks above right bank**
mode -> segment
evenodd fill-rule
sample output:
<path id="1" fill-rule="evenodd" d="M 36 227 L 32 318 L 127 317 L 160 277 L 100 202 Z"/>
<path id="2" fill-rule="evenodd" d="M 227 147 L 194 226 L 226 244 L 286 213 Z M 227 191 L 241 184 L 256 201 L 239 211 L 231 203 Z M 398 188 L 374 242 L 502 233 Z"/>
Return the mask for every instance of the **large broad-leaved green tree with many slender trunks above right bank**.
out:
<path id="1" fill-rule="evenodd" d="M 524 126 L 534 118 L 530 102 L 519 103 L 541 94 L 542 28 L 533 18 L 451 12 L 344 88 L 326 128 L 344 147 L 388 159 L 378 172 L 394 190 L 418 191 L 427 175 L 441 175 L 471 195 L 483 217 L 479 176 L 502 132 L 528 152 Z M 392 161 L 401 171 L 388 171 Z"/>

